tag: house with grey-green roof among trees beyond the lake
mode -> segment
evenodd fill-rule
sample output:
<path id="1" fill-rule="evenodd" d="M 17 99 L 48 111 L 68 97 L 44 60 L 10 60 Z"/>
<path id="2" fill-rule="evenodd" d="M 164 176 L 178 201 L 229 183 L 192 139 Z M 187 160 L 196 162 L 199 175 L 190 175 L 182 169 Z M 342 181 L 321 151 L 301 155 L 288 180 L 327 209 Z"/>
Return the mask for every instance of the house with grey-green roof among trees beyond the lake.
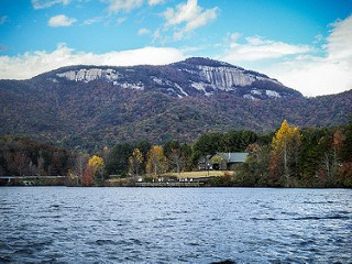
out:
<path id="1" fill-rule="evenodd" d="M 249 153 L 245 152 L 218 152 L 215 155 L 207 155 L 199 158 L 199 170 L 232 170 L 238 164 L 244 163 Z"/>

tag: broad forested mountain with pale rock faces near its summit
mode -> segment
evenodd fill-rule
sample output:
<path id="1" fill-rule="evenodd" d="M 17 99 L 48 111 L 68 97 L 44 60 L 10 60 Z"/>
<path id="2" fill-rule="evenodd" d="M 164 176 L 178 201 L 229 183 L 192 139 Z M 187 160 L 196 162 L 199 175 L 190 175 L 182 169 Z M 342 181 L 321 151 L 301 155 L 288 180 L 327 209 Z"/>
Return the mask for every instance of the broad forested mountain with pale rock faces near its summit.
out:
<path id="1" fill-rule="evenodd" d="M 339 125 L 352 91 L 305 98 L 266 75 L 209 58 L 164 66 L 69 66 L 0 80 L 0 134 L 70 147 L 191 141 L 207 131 Z"/>

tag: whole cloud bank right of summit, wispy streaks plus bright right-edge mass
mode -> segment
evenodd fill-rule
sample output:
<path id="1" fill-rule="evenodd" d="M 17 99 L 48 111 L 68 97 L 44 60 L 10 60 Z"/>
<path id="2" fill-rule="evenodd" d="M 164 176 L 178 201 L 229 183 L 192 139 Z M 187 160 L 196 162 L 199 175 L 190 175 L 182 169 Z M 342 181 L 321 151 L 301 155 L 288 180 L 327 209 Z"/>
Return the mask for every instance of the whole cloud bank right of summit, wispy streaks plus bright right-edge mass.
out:
<path id="1" fill-rule="evenodd" d="M 240 34 L 234 33 L 229 37 L 230 44 L 220 58 L 267 74 L 309 97 L 350 90 L 352 15 L 330 26 L 329 36 L 323 40 L 318 35 L 311 46 L 260 36 L 245 37 L 245 43 L 239 43 Z M 318 43 L 322 45 L 319 47 L 316 45 Z"/>

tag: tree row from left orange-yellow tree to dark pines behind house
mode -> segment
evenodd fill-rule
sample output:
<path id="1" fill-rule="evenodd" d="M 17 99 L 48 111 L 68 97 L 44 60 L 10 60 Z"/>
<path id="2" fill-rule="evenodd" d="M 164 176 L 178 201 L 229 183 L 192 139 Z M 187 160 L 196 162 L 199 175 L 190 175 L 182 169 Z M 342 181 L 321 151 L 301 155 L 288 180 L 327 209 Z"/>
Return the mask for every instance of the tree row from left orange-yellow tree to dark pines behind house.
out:
<path id="1" fill-rule="evenodd" d="M 194 143 L 168 141 L 163 145 L 152 145 L 147 141 L 118 143 L 111 150 L 105 147 L 91 158 L 79 154 L 72 173 L 78 185 L 101 185 L 110 177 L 132 178 L 143 175 L 144 180 L 155 180 L 165 173 L 195 170 L 201 156 L 217 152 L 245 151 L 251 143 L 263 140 L 251 131 L 210 132 L 199 136 Z M 94 163 L 92 160 L 99 162 Z M 99 165 L 89 165 L 99 164 Z"/>

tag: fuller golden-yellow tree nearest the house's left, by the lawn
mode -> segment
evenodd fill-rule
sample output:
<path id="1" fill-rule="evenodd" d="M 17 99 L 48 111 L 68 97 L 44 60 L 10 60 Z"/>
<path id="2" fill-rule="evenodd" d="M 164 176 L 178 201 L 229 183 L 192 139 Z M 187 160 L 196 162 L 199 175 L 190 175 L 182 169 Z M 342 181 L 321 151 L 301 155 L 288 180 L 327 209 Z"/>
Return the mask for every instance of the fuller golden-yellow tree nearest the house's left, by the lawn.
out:
<path id="1" fill-rule="evenodd" d="M 157 176 L 166 169 L 166 157 L 164 150 L 160 145 L 154 145 L 147 153 L 146 170 Z"/>

